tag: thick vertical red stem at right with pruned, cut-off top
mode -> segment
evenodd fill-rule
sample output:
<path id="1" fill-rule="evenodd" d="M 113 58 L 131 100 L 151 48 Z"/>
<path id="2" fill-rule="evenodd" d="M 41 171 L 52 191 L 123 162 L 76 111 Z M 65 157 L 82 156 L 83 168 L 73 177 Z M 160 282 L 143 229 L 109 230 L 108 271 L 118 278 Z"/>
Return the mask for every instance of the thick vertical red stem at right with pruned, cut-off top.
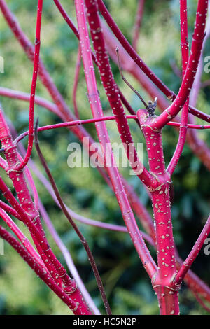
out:
<path id="1" fill-rule="evenodd" d="M 155 118 L 148 116 L 147 111 L 139 110 L 137 116 L 146 140 L 150 171 L 158 181 L 158 186 L 150 189 L 158 254 L 158 274 L 153 278 L 153 289 L 158 295 L 160 314 L 177 315 L 178 292 L 172 288 L 176 274 L 176 258 L 169 195 L 170 177 L 165 170 L 162 131 L 153 131 L 151 125 Z"/>

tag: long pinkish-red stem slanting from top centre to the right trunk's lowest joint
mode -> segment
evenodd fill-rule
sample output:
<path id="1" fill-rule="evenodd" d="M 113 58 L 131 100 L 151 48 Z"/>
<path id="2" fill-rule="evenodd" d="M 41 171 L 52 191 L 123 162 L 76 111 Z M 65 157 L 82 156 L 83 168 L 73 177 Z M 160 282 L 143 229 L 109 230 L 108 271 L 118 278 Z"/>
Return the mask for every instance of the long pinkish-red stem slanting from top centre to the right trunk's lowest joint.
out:
<path id="1" fill-rule="evenodd" d="M 97 83 L 94 76 L 94 66 L 92 63 L 90 40 L 88 36 L 87 23 L 85 18 L 85 6 L 83 1 L 75 1 L 75 4 L 90 107 L 92 109 L 92 115 L 94 116 L 94 118 L 99 118 L 100 116 L 103 116 L 103 111 L 97 91 Z M 143 262 L 143 265 L 146 271 L 148 272 L 148 275 L 152 278 L 155 272 L 157 271 L 157 267 L 153 258 L 151 257 L 151 254 L 148 251 L 148 248 L 146 247 L 146 244 L 144 243 L 144 239 L 141 237 L 141 233 L 139 232 L 139 228 L 135 221 L 134 214 L 127 200 L 127 195 L 125 193 L 123 183 L 120 179 L 120 174 L 113 159 L 113 153 L 111 150 L 111 144 L 109 141 L 109 135 L 106 130 L 106 126 L 104 123 L 99 123 L 96 125 L 96 129 L 99 137 L 99 142 L 104 150 L 105 159 L 111 160 L 110 163 L 113 164 L 113 167 L 108 166 L 107 171 L 109 172 L 109 176 L 111 177 L 113 190 L 120 205 L 125 224 L 130 232 L 130 236 L 132 238 L 134 246 L 137 249 L 137 253 L 141 258 L 141 261 Z"/>

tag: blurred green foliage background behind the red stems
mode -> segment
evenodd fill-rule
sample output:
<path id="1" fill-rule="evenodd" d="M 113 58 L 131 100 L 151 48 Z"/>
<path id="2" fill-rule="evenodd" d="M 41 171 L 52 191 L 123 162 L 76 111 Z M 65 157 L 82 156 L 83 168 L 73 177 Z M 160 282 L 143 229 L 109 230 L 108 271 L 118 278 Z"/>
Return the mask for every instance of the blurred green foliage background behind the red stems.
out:
<path id="1" fill-rule="evenodd" d="M 6 1 L 11 10 L 17 15 L 22 29 L 31 41 L 34 41 L 36 21 L 36 1 L 8 0 Z M 50 71 L 55 84 L 62 93 L 66 103 L 71 109 L 72 87 L 75 71 L 78 41 L 72 31 L 59 15 L 52 0 L 43 1 L 43 23 L 41 33 L 41 57 L 48 71 Z M 189 3 L 189 40 L 193 31 L 195 8 L 197 1 Z M 62 0 L 71 18 L 76 22 L 73 1 Z M 122 29 L 129 41 L 132 41 L 137 0 L 107 0 L 106 5 L 111 10 L 113 18 Z M 1 14 L 0 14 L 1 15 Z M 172 71 L 171 62 L 181 66 L 180 35 L 179 35 L 179 1 L 176 0 L 148 0 L 145 6 L 145 15 L 141 27 L 139 40 L 139 54 L 148 66 L 174 92 L 179 90 L 180 80 Z M 205 55 L 209 55 L 210 43 L 207 43 Z M 22 48 L 15 40 L 6 22 L 0 20 L 0 55 L 5 60 L 5 73 L 1 73 L 1 86 L 9 87 L 24 92 L 30 91 L 32 65 L 27 59 Z M 136 95 L 127 88 L 120 80 L 118 67 L 111 62 L 113 73 L 121 90 L 129 99 L 132 107 L 137 110 L 141 104 Z M 148 95 L 141 90 L 134 78 L 129 77 L 142 96 L 148 100 Z M 209 78 L 204 73 L 202 80 Z M 104 90 L 97 73 L 99 92 L 105 115 L 111 114 L 111 109 L 106 100 Z M 78 86 L 78 107 L 81 118 L 91 118 L 92 114 L 86 97 L 85 78 L 83 70 L 80 72 Z M 37 85 L 37 94 L 50 100 L 46 90 L 40 82 Z M 209 113 L 210 88 L 206 87 L 200 92 L 197 107 Z M 25 102 L 15 101 L 1 97 L 1 104 L 6 116 L 14 123 L 18 134 L 27 130 L 29 105 Z M 39 116 L 40 125 L 59 123 L 60 120 L 54 114 L 36 106 L 36 116 Z M 97 139 L 94 125 L 85 126 L 92 136 Z M 111 141 L 120 141 L 116 124 L 107 123 Z M 130 121 L 130 128 L 137 142 L 144 141 L 139 127 Z M 210 145 L 209 131 L 199 133 L 200 137 Z M 178 134 L 172 127 L 164 130 L 165 157 L 168 163 L 174 152 Z M 118 204 L 112 191 L 106 186 L 104 180 L 96 169 L 73 168 L 67 165 L 67 146 L 72 141 L 77 141 L 69 130 L 60 129 L 39 134 L 41 148 L 48 160 L 48 165 L 57 181 L 62 197 L 73 211 L 97 221 L 118 223 L 123 225 Z M 36 152 L 33 152 L 33 160 L 43 172 L 38 162 Z M 146 162 L 146 156 L 144 156 Z M 145 163 L 146 165 L 146 163 Z M 129 169 L 120 169 L 136 190 L 141 202 L 151 212 L 151 202 L 148 200 L 144 188 L 139 179 L 130 176 Z M 3 174 L 3 173 L 2 173 Z M 209 181 L 210 174 L 195 158 L 188 146 L 185 146 L 179 167 L 174 173 L 174 204 L 172 216 L 174 224 L 174 237 L 183 258 L 188 255 L 197 235 L 209 214 Z M 104 314 L 99 293 L 97 291 L 94 276 L 90 269 L 85 251 L 69 227 L 66 218 L 61 214 L 58 207 L 52 202 L 52 198 L 34 175 L 38 186 L 38 193 L 45 204 L 52 223 L 55 225 L 60 237 L 69 248 L 76 267 L 83 278 L 87 289 Z M 9 183 L 9 182 L 8 182 Z M 152 213 L 151 213 L 152 214 Z M 106 293 L 111 302 L 113 314 L 158 314 L 158 303 L 151 288 L 146 272 L 141 265 L 130 237 L 124 233 L 99 230 L 78 224 L 92 248 L 99 265 L 99 271 L 106 288 Z M 27 232 L 20 225 L 22 230 Z M 48 230 L 45 229 L 47 234 Z M 57 246 L 48 234 L 50 244 L 56 255 L 63 264 L 64 259 Z M 151 249 L 155 257 L 155 251 Z M 193 265 L 193 270 L 204 281 L 209 279 L 209 256 L 200 253 L 199 258 Z M 207 314 L 183 284 L 180 294 L 181 314 Z M 5 255 L 0 256 L 0 314 L 69 314 L 69 309 L 45 285 L 36 278 L 34 273 L 20 259 L 20 257 L 5 245 Z"/>

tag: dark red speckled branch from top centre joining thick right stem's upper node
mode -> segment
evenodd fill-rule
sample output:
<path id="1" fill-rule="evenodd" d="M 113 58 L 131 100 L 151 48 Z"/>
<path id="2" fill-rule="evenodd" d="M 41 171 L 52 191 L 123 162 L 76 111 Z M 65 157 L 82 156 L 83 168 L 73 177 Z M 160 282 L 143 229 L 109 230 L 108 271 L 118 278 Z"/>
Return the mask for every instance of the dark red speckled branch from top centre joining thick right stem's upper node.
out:
<path id="1" fill-rule="evenodd" d="M 130 161 L 132 169 L 134 169 L 134 172 L 137 173 L 139 179 L 141 179 L 141 181 L 143 181 L 146 186 L 150 186 L 151 184 L 153 184 L 154 179 L 139 161 L 137 151 L 134 147 L 134 142 L 130 132 L 130 127 L 127 123 L 127 118 L 123 109 L 123 104 L 120 100 L 118 87 L 113 78 L 113 73 L 109 64 L 109 56 L 106 52 L 104 36 L 99 20 L 97 0 L 86 0 L 85 3 L 87 7 L 87 19 L 90 25 L 90 33 L 92 36 L 94 51 L 97 57 L 99 73 L 102 78 L 102 84 L 104 86 L 106 96 L 109 100 L 109 104 L 116 118 L 120 139 L 123 142 L 123 145 L 125 146 L 125 151 L 129 160 L 131 158 L 130 149 L 127 146 L 130 146 L 133 149 L 134 157 L 132 157 L 133 159 L 132 161 Z"/>

